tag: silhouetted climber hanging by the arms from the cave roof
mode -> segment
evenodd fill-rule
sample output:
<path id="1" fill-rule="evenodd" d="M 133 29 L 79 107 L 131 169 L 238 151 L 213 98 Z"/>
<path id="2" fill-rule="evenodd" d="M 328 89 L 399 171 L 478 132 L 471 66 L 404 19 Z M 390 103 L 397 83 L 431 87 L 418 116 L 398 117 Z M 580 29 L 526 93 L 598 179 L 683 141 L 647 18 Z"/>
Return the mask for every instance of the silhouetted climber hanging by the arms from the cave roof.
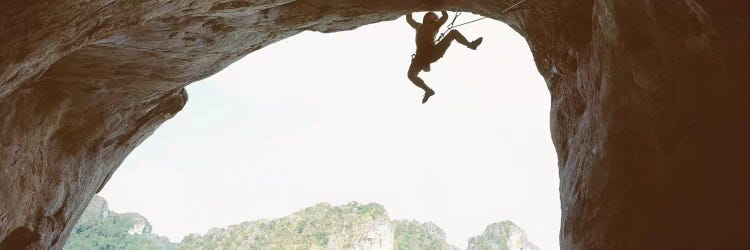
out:
<path id="1" fill-rule="evenodd" d="M 463 44 L 473 50 L 476 50 L 477 47 L 479 47 L 479 44 L 482 43 L 481 37 L 469 42 L 460 32 L 453 29 L 450 30 L 442 40 L 435 43 L 435 36 L 437 35 L 438 30 L 447 20 L 448 12 L 446 11 L 442 11 L 442 17 L 440 18 L 438 18 L 437 14 L 434 12 L 428 12 L 424 15 L 422 23 L 414 21 L 411 13 L 406 15 L 406 22 L 408 22 L 412 28 L 417 30 L 417 53 L 414 54 L 414 57 L 411 60 L 407 76 L 414 85 L 417 85 L 417 87 L 424 90 L 422 103 L 427 102 L 427 99 L 434 95 L 435 91 L 428 87 L 424 81 L 417 76 L 419 72 L 430 72 L 430 64 L 442 58 L 443 55 L 445 55 L 445 51 L 448 50 L 448 47 L 453 41 Z"/>

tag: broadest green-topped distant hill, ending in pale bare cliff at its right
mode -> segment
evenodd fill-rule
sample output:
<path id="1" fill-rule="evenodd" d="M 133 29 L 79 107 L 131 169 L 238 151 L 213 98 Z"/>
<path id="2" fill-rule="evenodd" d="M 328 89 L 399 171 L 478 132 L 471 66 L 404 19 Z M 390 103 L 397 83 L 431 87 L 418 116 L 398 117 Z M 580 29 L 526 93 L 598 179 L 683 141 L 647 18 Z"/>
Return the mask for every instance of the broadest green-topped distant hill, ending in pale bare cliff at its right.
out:
<path id="1" fill-rule="evenodd" d="M 368 225 L 388 223 L 383 206 L 356 202 L 332 207 L 321 203 L 288 217 L 258 220 L 185 237 L 177 249 L 350 249 Z"/>

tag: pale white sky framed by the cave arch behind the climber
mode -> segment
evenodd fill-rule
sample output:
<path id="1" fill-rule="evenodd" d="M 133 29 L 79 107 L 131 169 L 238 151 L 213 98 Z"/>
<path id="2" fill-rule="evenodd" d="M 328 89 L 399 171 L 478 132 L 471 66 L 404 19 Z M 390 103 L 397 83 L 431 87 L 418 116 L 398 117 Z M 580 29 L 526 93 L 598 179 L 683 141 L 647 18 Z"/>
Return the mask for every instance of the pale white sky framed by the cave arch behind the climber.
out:
<path id="1" fill-rule="evenodd" d="M 476 51 L 454 43 L 420 74 L 436 91 L 426 104 L 406 78 L 415 45 L 403 17 L 253 52 L 189 85 L 185 108 L 100 195 L 172 241 L 357 201 L 432 221 L 461 248 L 512 220 L 536 245 L 559 249 L 550 96 L 529 47 L 491 19 L 459 30 L 484 42 Z"/>

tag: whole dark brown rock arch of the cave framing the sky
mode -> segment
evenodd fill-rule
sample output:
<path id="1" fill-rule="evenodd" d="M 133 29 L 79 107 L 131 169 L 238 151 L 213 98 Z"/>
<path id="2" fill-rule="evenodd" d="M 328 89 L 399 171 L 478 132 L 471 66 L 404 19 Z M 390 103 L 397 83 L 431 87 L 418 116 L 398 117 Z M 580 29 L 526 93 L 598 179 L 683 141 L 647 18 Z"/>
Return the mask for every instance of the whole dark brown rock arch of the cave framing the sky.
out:
<path id="1" fill-rule="evenodd" d="M 750 3 L 529 2 L 0 1 L 0 249 L 61 248 L 185 85 L 305 30 L 443 8 L 529 43 L 552 96 L 562 248 L 750 245 Z"/>

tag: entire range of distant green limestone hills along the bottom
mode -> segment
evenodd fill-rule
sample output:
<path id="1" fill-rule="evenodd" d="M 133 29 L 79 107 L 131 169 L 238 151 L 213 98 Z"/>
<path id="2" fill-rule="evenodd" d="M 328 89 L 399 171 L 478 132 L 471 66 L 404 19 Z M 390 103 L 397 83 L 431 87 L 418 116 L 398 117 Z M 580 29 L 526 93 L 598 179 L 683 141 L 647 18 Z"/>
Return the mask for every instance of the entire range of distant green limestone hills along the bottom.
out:
<path id="1" fill-rule="evenodd" d="M 94 197 L 65 249 L 351 249 L 458 250 L 432 222 L 391 220 L 376 203 L 342 206 L 320 203 L 292 215 L 214 228 L 185 236 L 180 243 L 151 233 L 151 224 L 134 213 L 118 214 Z M 510 221 L 495 223 L 472 237 L 469 250 L 537 250 Z"/>

